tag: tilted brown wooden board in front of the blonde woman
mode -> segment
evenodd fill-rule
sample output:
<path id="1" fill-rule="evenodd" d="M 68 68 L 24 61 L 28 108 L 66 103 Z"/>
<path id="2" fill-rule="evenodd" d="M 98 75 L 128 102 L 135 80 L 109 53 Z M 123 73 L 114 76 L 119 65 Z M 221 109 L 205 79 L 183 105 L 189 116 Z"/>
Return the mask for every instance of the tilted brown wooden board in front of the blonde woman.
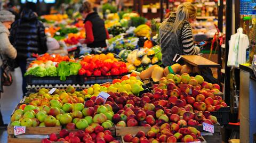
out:
<path id="1" fill-rule="evenodd" d="M 220 64 L 214 63 L 207 58 L 198 55 L 182 55 L 182 59 L 193 66 L 198 68 L 219 68 Z"/>

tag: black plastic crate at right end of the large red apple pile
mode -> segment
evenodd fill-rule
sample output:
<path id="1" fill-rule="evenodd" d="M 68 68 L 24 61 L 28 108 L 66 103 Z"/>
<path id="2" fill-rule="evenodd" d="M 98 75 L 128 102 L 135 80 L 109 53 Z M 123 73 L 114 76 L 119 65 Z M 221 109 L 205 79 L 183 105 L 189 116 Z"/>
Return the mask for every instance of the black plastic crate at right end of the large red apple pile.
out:
<path id="1" fill-rule="evenodd" d="M 211 114 L 217 117 L 221 125 L 227 125 L 229 123 L 229 112 L 230 107 L 221 107 L 218 111 L 211 112 Z"/>

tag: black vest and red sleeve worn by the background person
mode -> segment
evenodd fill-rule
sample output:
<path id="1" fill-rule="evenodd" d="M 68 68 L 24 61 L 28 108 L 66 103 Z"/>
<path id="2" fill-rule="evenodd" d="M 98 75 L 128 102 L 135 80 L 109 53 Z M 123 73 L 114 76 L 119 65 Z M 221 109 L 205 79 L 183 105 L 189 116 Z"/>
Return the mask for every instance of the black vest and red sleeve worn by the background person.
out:
<path id="1" fill-rule="evenodd" d="M 105 23 L 100 18 L 98 13 L 97 12 L 89 13 L 86 16 L 84 23 L 85 23 L 86 39 L 88 36 L 90 37 L 91 29 L 92 29 L 92 33 L 93 33 L 93 39 L 94 39 L 92 41 L 92 43 L 86 43 L 87 46 L 91 47 L 91 48 L 107 47 L 107 45 L 106 45 L 107 32 L 105 29 Z"/>

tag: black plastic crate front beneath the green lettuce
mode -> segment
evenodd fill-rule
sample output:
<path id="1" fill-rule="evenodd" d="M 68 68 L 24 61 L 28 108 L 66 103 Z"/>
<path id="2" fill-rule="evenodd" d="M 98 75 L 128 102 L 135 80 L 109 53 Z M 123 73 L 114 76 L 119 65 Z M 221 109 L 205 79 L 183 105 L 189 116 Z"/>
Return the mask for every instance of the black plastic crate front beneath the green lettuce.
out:
<path id="1" fill-rule="evenodd" d="M 61 81 L 60 77 L 35 77 L 33 75 L 26 76 L 27 85 L 77 85 L 78 76 L 70 75 L 65 81 Z"/>

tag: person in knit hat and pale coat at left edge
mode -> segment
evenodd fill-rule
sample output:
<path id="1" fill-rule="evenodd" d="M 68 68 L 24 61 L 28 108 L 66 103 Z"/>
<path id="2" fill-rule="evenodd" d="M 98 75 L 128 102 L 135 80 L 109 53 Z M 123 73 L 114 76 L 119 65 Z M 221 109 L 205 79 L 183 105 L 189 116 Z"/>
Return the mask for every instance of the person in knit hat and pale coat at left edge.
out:
<path id="1" fill-rule="evenodd" d="M 3 64 L 2 58 L 11 58 L 15 59 L 17 56 L 16 49 L 12 46 L 9 41 L 10 32 L 8 29 L 11 28 L 12 22 L 14 22 L 15 15 L 9 11 L 2 10 L 0 11 L 0 65 Z M 2 75 L 1 75 L 2 78 Z M 0 93 L 3 92 L 3 86 L 0 82 Z M 0 128 L 6 128 L 7 124 L 4 124 L 2 113 L 0 111 Z"/>

